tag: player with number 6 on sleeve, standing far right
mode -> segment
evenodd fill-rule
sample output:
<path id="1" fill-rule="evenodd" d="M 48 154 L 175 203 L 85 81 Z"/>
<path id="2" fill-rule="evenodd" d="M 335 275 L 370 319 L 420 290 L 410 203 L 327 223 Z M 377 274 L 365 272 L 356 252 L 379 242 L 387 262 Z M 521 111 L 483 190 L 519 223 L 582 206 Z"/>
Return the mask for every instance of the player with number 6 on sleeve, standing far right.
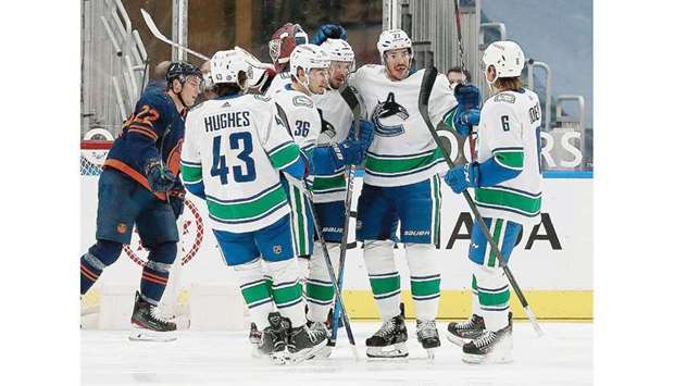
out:
<path id="1" fill-rule="evenodd" d="M 460 194 L 475 188 L 475 203 L 508 261 L 522 226 L 539 221 L 541 204 L 540 104 L 522 87 L 524 53 L 514 41 L 495 41 L 483 55 L 485 77 L 494 95 L 477 126 L 477 161 L 453 167 L 445 176 Z M 461 101 L 463 103 L 474 101 Z M 467 132 L 470 127 L 464 127 Z M 512 322 L 508 279 L 477 224 L 471 234 L 473 315 L 450 323 L 450 341 L 463 344 L 466 362 L 512 360 Z"/>

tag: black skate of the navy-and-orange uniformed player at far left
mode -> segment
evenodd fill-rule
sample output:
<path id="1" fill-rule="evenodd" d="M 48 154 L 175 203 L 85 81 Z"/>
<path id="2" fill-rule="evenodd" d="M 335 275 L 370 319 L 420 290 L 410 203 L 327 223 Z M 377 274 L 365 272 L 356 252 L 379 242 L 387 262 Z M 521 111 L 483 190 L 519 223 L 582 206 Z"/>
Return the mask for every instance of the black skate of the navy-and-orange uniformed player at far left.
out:
<path id="1" fill-rule="evenodd" d="M 177 339 L 173 333 L 176 329 L 175 323 L 159 316 L 159 308 L 145 300 L 138 291 L 136 291 L 132 324 L 135 329 L 129 335 L 129 340 L 171 341 Z"/>

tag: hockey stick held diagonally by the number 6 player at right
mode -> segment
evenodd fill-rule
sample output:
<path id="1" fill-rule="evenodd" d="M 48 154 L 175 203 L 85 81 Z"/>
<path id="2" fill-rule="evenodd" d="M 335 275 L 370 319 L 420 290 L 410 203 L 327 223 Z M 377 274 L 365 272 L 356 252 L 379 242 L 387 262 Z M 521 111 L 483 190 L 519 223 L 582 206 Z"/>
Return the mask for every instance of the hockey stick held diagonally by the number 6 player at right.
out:
<path id="1" fill-rule="evenodd" d="M 428 116 L 428 99 L 430 98 L 430 90 L 433 89 L 433 84 L 435 83 L 435 78 L 437 77 L 437 75 L 438 75 L 438 70 L 436 67 L 430 66 L 426 69 L 426 72 L 424 73 L 424 78 L 422 79 L 421 90 L 419 92 L 419 111 L 422 114 L 422 117 L 424 119 L 424 122 L 426 123 L 426 126 L 428 127 L 428 130 L 430 132 L 433 139 L 435 140 L 438 148 L 442 152 L 442 157 L 445 157 L 445 161 L 447 161 L 447 164 L 449 165 L 449 167 L 454 167 L 454 163 L 452 162 L 451 157 L 449 154 L 449 149 L 447 149 L 440 141 L 440 137 L 435 132 L 435 128 L 433 127 L 433 123 L 430 122 L 430 117 Z M 489 234 L 489 228 L 487 228 L 487 225 L 485 224 L 484 219 L 482 217 L 482 215 L 479 215 L 479 211 L 477 210 L 477 207 L 475 206 L 475 201 L 473 201 L 473 198 L 471 197 L 471 194 L 467 190 L 463 191 L 463 197 L 465 198 L 465 201 L 471 208 L 471 212 L 473 212 L 473 215 L 475 216 L 475 221 L 477 222 L 477 224 L 479 224 L 479 228 L 482 229 L 483 234 L 487 238 L 487 241 L 489 241 L 489 246 L 491 246 L 491 250 L 496 252 L 496 258 L 499 261 L 499 265 L 503 269 L 503 272 L 506 273 L 508 281 L 510 282 L 510 286 L 514 289 L 515 294 L 517 295 L 517 299 L 520 299 L 520 303 L 522 303 L 522 307 L 524 308 L 524 311 L 526 312 L 526 316 L 532 322 L 532 325 L 534 326 L 534 329 L 536 331 L 538 336 L 542 336 L 542 331 L 540 329 L 540 326 L 538 325 L 536 315 L 534 314 L 534 311 L 532 311 L 532 308 L 529 307 L 528 302 L 524 298 L 524 294 L 522 294 L 522 289 L 520 289 L 520 286 L 517 285 L 515 277 L 512 275 L 512 272 L 510 272 L 510 267 L 507 265 L 506 261 L 503 260 L 503 257 L 501 256 L 501 251 L 498 245 L 496 244 L 496 241 L 494 241 L 494 238 L 491 238 L 491 235 Z"/>

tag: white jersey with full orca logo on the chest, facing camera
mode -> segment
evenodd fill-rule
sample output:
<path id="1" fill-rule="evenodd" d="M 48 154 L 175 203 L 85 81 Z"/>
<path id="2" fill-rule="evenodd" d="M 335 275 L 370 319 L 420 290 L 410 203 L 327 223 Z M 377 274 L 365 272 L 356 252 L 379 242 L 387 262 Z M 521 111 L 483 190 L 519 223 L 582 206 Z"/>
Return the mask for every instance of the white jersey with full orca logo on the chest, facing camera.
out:
<path id="1" fill-rule="evenodd" d="M 383 65 L 360 67 L 349 84 L 361 95 L 367 120 L 375 125 L 375 137 L 365 159 L 365 184 L 401 186 L 422 182 L 447 171 L 442 153 L 419 112 L 419 91 L 425 70 L 394 82 Z M 438 74 L 428 115 L 434 127 L 457 107 L 449 80 Z"/>

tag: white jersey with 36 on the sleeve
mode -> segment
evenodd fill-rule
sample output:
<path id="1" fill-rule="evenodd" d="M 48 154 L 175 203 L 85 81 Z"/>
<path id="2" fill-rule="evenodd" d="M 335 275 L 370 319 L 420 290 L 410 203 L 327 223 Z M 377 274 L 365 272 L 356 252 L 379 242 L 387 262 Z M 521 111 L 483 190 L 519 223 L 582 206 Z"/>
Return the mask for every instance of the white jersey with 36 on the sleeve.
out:
<path id="1" fill-rule="evenodd" d="M 288 130 L 295 142 L 311 160 L 311 153 L 321 134 L 321 115 L 316 104 L 310 97 L 290 86 L 276 91 L 273 100 L 277 104 L 282 121 L 288 122 Z"/>

